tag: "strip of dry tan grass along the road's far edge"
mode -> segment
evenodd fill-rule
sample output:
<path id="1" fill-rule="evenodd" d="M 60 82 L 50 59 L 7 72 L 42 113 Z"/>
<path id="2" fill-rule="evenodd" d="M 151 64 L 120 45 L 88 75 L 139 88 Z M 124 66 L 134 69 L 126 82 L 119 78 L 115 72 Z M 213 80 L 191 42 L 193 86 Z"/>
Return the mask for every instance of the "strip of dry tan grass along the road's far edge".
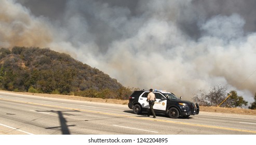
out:
<path id="1" fill-rule="evenodd" d="M 11 93 L 14 93 L 14 92 L 11 92 Z M 15 93 L 41 96 L 41 97 L 52 97 L 52 98 L 72 99 L 72 100 L 93 101 L 93 102 L 110 103 L 110 104 L 122 104 L 122 105 L 127 105 L 128 104 L 128 100 L 118 100 L 118 99 L 101 99 L 101 98 L 88 98 L 88 97 L 69 96 L 69 95 L 38 94 L 38 93 L 23 93 L 23 92 L 15 92 Z M 200 106 L 200 111 L 217 112 L 217 113 L 230 113 L 230 114 L 243 114 L 243 115 L 256 115 L 256 110 L 243 109 L 243 108 L 223 108 L 223 107 L 204 107 L 204 106 Z"/>

